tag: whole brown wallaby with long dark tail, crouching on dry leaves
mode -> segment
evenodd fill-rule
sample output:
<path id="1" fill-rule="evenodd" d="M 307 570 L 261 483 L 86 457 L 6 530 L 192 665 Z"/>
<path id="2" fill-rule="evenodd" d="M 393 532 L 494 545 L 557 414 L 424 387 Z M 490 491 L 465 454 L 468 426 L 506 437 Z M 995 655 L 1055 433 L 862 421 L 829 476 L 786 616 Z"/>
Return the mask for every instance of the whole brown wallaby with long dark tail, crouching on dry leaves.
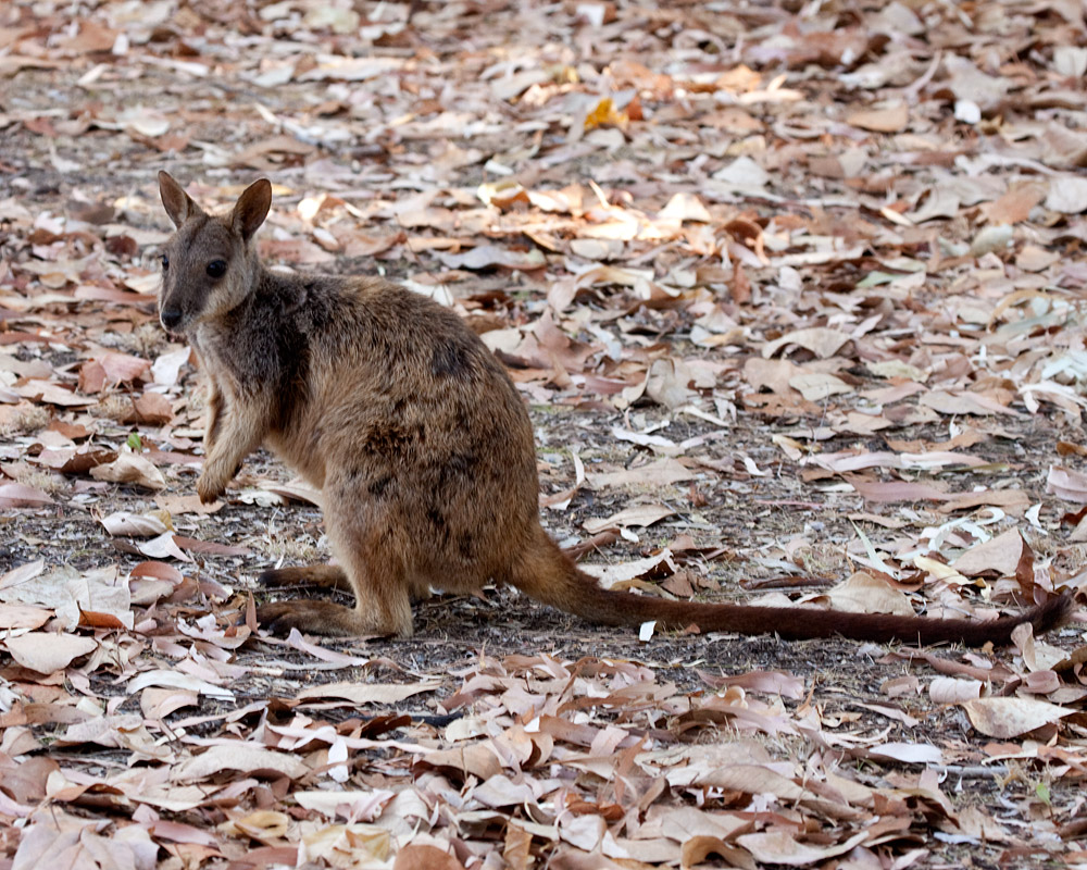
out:
<path id="1" fill-rule="evenodd" d="M 165 172 L 159 190 L 177 227 L 162 257 L 160 316 L 188 337 L 210 388 L 200 498 L 222 495 L 266 445 L 323 490 L 338 566 L 270 570 L 262 581 L 354 592 L 354 608 L 264 605 L 258 619 L 273 631 L 407 636 L 413 597 L 432 586 L 478 592 L 491 580 L 591 622 L 784 638 L 1007 644 L 1021 623 L 1044 632 L 1067 616 L 1067 597 L 985 622 L 604 589 L 541 527 L 525 405 L 457 314 L 380 278 L 267 271 L 253 240 L 272 204 L 266 179 L 218 216 Z"/>

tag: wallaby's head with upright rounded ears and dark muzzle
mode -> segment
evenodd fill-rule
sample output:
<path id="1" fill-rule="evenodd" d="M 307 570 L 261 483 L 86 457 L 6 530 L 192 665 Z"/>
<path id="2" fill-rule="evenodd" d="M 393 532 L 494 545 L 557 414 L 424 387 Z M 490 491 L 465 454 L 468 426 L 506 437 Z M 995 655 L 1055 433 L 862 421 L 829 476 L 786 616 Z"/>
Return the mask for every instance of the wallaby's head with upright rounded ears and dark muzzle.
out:
<path id="1" fill-rule="evenodd" d="M 177 232 L 162 253 L 159 318 L 172 333 L 233 310 L 254 289 L 260 258 L 253 235 L 272 206 L 272 184 L 254 182 L 227 214 L 209 215 L 168 173 L 159 194 Z"/>

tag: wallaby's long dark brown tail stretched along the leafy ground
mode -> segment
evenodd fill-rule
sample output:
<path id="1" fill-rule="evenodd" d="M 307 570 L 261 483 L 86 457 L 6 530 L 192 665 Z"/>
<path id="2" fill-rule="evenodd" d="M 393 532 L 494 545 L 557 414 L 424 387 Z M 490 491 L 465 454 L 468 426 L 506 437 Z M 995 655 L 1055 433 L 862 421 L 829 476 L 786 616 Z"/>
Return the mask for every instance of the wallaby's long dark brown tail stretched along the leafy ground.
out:
<path id="1" fill-rule="evenodd" d="M 628 592 L 605 589 L 570 560 L 544 530 L 524 554 L 511 576 L 513 585 L 541 604 L 551 605 L 603 625 L 638 625 L 657 620 L 667 629 L 697 625 L 702 632 L 777 634 L 799 641 L 840 635 L 854 641 L 1005 646 L 1012 630 L 1029 622 L 1040 635 L 1062 625 L 1072 609 L 1063 594 L 1019 616 L 989 622 L 966 619 L 927 619 L 880 613 L 847 613 L 810 607 L 746 607 L 671 601 Z"/>

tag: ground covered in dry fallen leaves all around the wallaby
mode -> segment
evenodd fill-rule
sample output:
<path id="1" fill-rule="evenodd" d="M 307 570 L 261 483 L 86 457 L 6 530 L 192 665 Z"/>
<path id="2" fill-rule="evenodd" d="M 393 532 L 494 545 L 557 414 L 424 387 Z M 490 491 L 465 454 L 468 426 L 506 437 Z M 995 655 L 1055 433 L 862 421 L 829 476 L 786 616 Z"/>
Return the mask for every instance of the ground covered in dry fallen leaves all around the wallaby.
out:
<path id="1" fill-rule="evenodd" d="M 198 509 L 153 296 L 154 173 L 266 175 L 268 260 L 409 282 L 508 363 L 609 582 L 1013 612 L 1084 576 L 1077 9 L 0 11 L 0 862 L 1087 860 L 1078 617 L 639 639 L 493 588 L 252 633 L 321 511 L 265 452 Z"/>

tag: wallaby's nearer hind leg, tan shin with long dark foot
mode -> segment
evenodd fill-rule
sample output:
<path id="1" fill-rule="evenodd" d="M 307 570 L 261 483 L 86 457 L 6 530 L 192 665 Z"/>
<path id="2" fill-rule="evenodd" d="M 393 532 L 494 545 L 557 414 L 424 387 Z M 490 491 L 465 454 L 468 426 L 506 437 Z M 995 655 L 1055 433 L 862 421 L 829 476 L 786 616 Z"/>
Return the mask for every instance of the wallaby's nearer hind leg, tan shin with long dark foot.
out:
<path id="1" fill-rule="evenodd" d="M 336 504 L 334 487 L 326 485 L 325 492 L 330 504 Z M 322 568 L 326 576 L 340 571 L 354 592 L 354 607 L 309 599 L 275 601 L 257 611 L 265 629 L 276 634 L 298 629 L 340 636 L 411 635 L 411 585 L 400 558 L 403 548 L 397 542 L 402 530 L 392 529 L 372 511 L 360 510 L 350 517 L 345 513 L 325 518 L 333 552 L 342 568 Z"/>

